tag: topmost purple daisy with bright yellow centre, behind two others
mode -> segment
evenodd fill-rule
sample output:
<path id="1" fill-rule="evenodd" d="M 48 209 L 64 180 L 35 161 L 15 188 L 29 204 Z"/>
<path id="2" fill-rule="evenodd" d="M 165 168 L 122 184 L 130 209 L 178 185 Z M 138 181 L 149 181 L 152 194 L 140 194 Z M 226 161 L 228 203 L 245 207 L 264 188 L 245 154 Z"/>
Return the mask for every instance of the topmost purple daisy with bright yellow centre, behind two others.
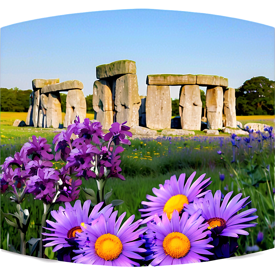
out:
<path id="1" fill-rule="evenodd" d="M 185 184 L 185 173 L 179 176 L 178 181 L 176 175 L 174 175 L 170 180 L 165 180 L 164 185 L 160 184 L 160 189 L 153 188 L 152 191 L 157 197 L 146 195 L 146 198 L 150 202 L 141 202 L 141 204 L 148 206 L 148 208 L 139 209 L 141 212 L 147 212 L 141 214 L 141 217 L 149 216 L 143 222 L 150 222 L 153 220 L 155 214 L 160 217 L 164 212 L 171 219 L 174 209 L 181 213 L 182 210 L 185 210 L 185 205 L 192 203 L 195 198 L 202 197 L 210 192 L 211 190 L 207 190 L 201 193 L 204 188 L 211 184 L 212 181 L 210 181 L 210 178 L 203 180 L 206 175 L 203 174 L 192 184 L 195 175 L 196 172 L 193 172 Z"/>

